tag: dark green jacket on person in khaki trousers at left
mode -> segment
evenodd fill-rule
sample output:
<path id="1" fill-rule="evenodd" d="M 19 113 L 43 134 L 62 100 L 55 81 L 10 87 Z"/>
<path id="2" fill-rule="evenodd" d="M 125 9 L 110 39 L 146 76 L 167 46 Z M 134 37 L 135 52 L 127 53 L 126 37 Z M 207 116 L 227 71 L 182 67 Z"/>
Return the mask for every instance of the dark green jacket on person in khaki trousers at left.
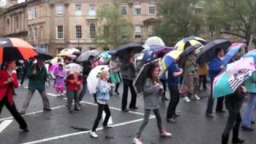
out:
<path id="1" fill-rule="evenodd" d="M 36 66 L 36 74 L 33 74 L 34 66 Z M 40 69 L 38 65 L 31 65 L 26 74 L 29 78 L 29 90 L 45 90 L 47 75 L 45 66 Z"/>

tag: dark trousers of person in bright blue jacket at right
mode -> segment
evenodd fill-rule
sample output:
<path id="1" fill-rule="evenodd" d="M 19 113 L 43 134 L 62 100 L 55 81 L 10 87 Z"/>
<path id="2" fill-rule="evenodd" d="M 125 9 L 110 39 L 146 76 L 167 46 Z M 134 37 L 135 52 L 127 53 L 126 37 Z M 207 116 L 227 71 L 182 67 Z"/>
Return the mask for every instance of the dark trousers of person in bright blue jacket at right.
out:
<path id="1" fill-rule="evenodd" d="M 208 102 L 207 102 L 206 114 L 213 113 L 213 108 L 214 108 L 213 82 L 214 82 L 214 79 L 210 79 L 210 96 L 209 96 Z M 218 98 L 216 111 L 223 110 L 223 102 L 224 102 L 224 97 Z"/>

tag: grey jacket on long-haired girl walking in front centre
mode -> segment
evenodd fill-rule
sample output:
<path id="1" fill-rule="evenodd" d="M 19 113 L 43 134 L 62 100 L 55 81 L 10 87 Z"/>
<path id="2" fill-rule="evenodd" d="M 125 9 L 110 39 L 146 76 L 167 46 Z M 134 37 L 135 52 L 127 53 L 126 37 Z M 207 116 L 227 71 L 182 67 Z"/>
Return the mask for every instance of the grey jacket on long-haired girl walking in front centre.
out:
<path id="1" fill-rule="evenodd" d="M 146 110 L 155 110 L 159 108 L 159 102 L 162 96 L 162 90 L 154 86 L 150 78 L 146 78 L 143 86 L 144 108 Z"/>

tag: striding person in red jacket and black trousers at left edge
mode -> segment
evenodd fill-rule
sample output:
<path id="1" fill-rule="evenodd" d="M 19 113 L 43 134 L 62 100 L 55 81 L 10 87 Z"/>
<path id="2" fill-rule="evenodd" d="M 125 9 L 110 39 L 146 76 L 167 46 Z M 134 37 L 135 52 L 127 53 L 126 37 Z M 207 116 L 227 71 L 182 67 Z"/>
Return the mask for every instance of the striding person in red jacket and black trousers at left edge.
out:
<path id="1" fill-rule="evenodd" d="M 6 67 L 0 70 L 0 114 L 2 107 L 10 111 L 10 114 L 14 116 L 14 119 L 18 122 L 20 129 L 24 132 L 28 132 L 26 121 L 22 118 L 21 114 L 18 113 L 13 100 L 13 89 L 18 87 L 17 74 L 13 73 L 16 68 L 16 62 L 7 62 Z"/>

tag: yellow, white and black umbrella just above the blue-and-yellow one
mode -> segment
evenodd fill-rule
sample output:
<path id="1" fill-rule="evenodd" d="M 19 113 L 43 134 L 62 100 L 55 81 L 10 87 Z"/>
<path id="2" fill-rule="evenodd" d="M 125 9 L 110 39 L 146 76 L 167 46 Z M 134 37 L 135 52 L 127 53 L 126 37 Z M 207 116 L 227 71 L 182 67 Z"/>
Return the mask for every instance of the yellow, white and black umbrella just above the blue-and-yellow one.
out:
<path id="1" fill-rule="evenodd" d="M 183 38 L 181 41 L 177 42 L 174 48 L 183 51 L 186 50 L 187 47 L 194 46 L 197 44 L 204 45 L 206 44 L 206 41 L 199 37 L 190 36 L 188 38 Z"/>

